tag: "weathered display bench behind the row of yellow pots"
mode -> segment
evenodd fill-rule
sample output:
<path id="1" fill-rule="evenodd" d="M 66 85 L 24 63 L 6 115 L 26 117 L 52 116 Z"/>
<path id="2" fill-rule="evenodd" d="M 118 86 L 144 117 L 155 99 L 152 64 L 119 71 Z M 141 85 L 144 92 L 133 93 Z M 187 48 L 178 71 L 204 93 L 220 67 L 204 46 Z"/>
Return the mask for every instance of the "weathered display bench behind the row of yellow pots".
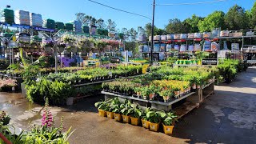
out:
<path id="1" fill-rule="evenodd" d="M 200 103 L 203 102 L 205 98 L 209 97 L 211 94 L 214 94 L 214 81 L 210 82 L 206 86 L 202 86 L 202 88 L 195 90 L 194 92 L 183 95 L 180 98 L 170 98 L 170 101 L 168 102 L 137 98 L 108 91 L 102 91 L 102 94 L 105 94 L 105 101 L 111 98 L 118 98 L 120 102 L 124 102 L 126 99 L 128 99 L 130 102 L 137 104 L 144 110 L 147 107 L 154 110 L 172 110 L 178 115 L 178 118 L 182 118 L 182 116 L 189 113 L 191 110 L 194 110 L 194 108 L 199 107 Z"/>

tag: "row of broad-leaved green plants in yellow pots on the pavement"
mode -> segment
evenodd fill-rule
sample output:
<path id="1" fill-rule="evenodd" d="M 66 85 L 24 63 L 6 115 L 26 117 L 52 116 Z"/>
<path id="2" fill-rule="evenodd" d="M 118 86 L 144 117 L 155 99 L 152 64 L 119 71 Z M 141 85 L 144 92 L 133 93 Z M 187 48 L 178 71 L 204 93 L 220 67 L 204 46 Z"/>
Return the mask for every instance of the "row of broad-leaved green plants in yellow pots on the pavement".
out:
<path id="1" fill-rule="evenodd" d="M 173 133 L 174 122 L 177 118 L 172 112 L 166 113 L 150 108 L 142 110 L 128 100 L 122 103 L 118 98 L 113 98 L 105 102 L 96 102 L 95 106 L 98 108 L 98 114 L 100 116 L 114 119 L 117 122 L 143 126 L 153 131 L 158 131 L 162 123 L 165 134 Z"/>

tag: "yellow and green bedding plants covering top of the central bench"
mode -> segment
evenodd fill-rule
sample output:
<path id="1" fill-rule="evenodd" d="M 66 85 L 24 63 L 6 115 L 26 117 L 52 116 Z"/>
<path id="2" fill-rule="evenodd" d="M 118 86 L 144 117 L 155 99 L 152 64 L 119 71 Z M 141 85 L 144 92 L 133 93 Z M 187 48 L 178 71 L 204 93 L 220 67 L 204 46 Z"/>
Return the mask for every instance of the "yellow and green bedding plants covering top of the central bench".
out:
<path id="1" fill-rule="evenodd" d="M 169 102 L 189 94 L 191 90 L 214 82 L 213 68 L 162 67 L 151 74 L 137 78 L 122 78 L 113 82 L 103 82 L 102 89 L 111 93 L 124 94 L 138 98 Z"/>

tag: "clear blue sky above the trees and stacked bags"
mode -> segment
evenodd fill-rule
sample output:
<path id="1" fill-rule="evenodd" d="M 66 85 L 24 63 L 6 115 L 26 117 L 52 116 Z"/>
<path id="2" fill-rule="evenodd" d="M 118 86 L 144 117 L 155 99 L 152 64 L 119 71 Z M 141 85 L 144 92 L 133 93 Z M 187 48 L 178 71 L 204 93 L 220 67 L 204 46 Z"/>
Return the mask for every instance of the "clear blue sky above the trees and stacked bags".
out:
<path id="1" fill-rule="evenodd" d="M 113 6 L 122 10 L 127 10 L 137 14 L 152 17 L 153 0 L 94 0 Z M 182 3 L 182 2 L 209 2 L 214 0 L 156 0 L 157 4 L 164 3 Z M 164 28 L 170 18 L 180 18 L 184 20 L 192 14 L 206 16 L 214 10 L 222 10 L 225 13 L 231 6 L 238 4 L 246 10 L 250 10 L 255 0 L 227 0 L 226 2 L 201 4 L 193 6 L 157 6 L 155 9 L 155 26 Z M 33 13 L 42 14 L 42 18 L 51 18 L 56 22 L 69 22 L 75 19 L 75 13 L 82 12 L 107 20 L 111 18 L 116 22 L 118 28 L 137 28 L 145 26 L 150 22 L 147 18 L 122 13 L 117 10 L 111 10 L 104 6 L 99 6 L 88 0 L 0 0 L 0 8 L 10 5 L 13 10 L 28 10 Z"/>

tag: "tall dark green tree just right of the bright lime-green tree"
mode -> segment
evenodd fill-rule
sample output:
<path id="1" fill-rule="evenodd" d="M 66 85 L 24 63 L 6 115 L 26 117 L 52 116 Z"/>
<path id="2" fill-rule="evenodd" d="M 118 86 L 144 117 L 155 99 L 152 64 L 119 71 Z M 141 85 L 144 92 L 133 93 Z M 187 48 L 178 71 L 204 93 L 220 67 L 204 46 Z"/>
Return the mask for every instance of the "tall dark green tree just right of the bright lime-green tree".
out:
<path id="1" fill-rule="evenodd" d="M 226 26 L 230 30 L 240 30 L 249 28 L 249 20 L 245 10 L 238 5 L 234 5 L 225 15 Z"/>

